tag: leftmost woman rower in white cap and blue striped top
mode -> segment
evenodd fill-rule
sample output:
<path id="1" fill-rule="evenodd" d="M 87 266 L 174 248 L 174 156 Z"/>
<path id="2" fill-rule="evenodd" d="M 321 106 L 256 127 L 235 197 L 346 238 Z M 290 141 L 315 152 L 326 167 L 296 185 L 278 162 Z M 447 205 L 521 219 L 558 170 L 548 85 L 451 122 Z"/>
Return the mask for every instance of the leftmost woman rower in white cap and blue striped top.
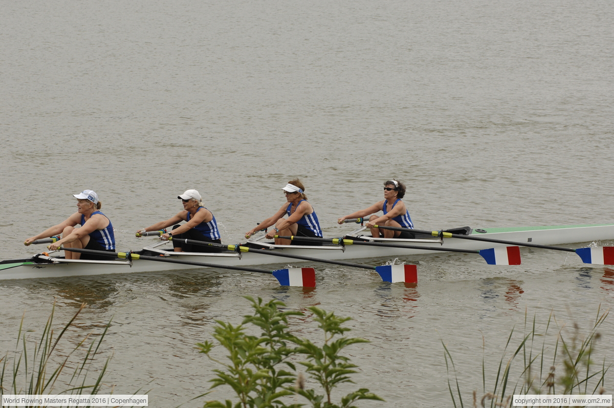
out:
<path id="1" fill-rule="evenodd" d="M 84 190 L 80 194 L 73 194 L 77 198 L 77 212 L 69 216 L 66 221 L 44 230 L 25 240 L 25 245 L 41 238 L 53 237 L 62 234 L 62 239 L 55 241 L 47 248 L 52 251 L 63 246 L 64 248 L 85 248 L 95 251 L 115 251 L 115 235 L 113 226 L 100 208 L 102 203 L 98 195 L 92 190 Z M 80 228 L 75 228 L 79 224 Z M 66 259 L 109 259 L 104 255 L 80 254 L 66 251 Z"/>

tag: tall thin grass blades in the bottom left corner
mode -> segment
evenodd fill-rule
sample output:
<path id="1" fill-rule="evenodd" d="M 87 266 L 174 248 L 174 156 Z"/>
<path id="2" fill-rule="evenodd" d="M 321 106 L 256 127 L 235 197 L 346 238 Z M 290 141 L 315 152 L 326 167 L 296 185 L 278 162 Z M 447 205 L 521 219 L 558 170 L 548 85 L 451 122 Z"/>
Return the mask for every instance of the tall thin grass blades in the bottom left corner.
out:
<path id="1" fill-rule="evenodd" d="M 98 350 L 111 325 L 104 327 L 98 339 L 87 334 L 64 351 L 64 343 L 69 328 L 85 308 L 82 304 L 77 313 L 59 332 L 53 329 L 53 312 L 39 338 L 33 339 L 31 330 L 23 328 L 25 315 L 21 318 L 17 344 L 12 353 L 0 358 L 0 395 L 1 394 L 97 394 L 103 385 L 103 377 L 111 357 L 104 359 L 101 367 L 93 367 Z M 59 346 L 58 346 L 59 345 Z M 88 379 L 88 371 L 98 371 L 94 380 Z"/>

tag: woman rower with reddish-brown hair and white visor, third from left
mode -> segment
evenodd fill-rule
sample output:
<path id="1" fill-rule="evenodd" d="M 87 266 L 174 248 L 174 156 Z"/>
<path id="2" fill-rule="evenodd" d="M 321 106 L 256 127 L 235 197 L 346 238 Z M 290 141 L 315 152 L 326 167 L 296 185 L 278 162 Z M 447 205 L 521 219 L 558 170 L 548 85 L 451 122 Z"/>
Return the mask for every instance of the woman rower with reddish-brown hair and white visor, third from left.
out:
<path id="1" fill-rule="evenodd" d="M 283 190 L 284 194 L 286 194 L 286 200 L 290 204 L 282 205 L 274 216 L 260 222 L 257 227 L 249 230 L 245 237 L 249 238 L 256 231 L 263 230 L 274 224 L 275 227 L 265 235 L 266 238 L 273 238 L 275 235 L 321 238 L 322 229 L 320 228 L 320 222 L 317 221 L 316 211 L 307 202 L 307 196 L 303 193 L 305 191 L 303 183 L 299 179 L 291 180 Z M 288 218 L 283 218 L 284 215 L 287 215 Z M 275 243 L 278 245 L 322 245 L 322 243 L 311 241 L 290 241 L 280 238 L 275 238 Z"/>

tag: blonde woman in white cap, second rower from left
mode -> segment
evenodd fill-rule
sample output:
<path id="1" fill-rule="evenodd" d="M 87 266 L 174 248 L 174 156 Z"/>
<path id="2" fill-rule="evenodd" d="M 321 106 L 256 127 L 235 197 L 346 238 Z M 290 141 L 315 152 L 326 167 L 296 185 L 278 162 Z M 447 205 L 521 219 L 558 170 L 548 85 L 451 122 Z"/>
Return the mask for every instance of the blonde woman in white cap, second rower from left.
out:
<path id="1" fill-rule="evenodd" d="M 166 241 L 169 237 L 177 238 L 177 240 L 173 240 L 173 249 L 176 252 L 219 252 L 220 249 L 211 248 L 211 246 L 192 245 L 179 241 L 181 239 L 188 239 L 222 243 L 222 241 L 220 241 L 220 232 L 217 229 L 216 218 L 211 211 L 204 208 L 202 197 L 198 191 L 187 190 L 184 194 L 177 195 L 177 198 L 183 202 L 183 211 L 179 211 L 176 216 L 166 221 L 157 222 L 152 226 L 137 231 L 137 237 L 141 232 L 157 231 L 170 227 L 178 222 L 187 221 L 181 226 L 174 226 L 173 232 L 163 233 L 160 239 Z"/>

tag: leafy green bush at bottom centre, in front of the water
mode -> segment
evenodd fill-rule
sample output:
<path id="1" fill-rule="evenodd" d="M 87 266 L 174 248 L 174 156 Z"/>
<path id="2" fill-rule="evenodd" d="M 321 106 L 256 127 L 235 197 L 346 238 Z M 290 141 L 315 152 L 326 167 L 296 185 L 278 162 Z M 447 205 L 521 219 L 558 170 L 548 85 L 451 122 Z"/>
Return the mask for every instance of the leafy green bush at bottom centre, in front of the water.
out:
<path id="1" fill-rule="evenodd" d="M 349 345 L 368 341 L 343 336 L 350 331 L 343 327 L 350 318 L 309 307 L 322 332 L 323 341 L 317 344 L 289 331 L 289 316 L 304 316 L 303 313 L 282 310 L 285 305 L 279 300 L 263 303 L 260 298 L 246 296 L 246 299 L 252 303 L 253 315 L 244 316 L 238 326 L 217 321 L 214 328 L 213 336 L 227 351 L 228 361 L 212 355 L 214 343 L 198 343 L 201 353 L 220 366 L 214 370 L 216 378 L 211 380 L 211 388 L 225 385 L 236 394 L 234 402 L 208 401 L 204 407 L 284 408 L 305 406 L 306 402 L 314 408 L 351 408 L 361 399 L 383 401 L 367 388 L 359 388 L 333 402 L 333 390 L 343 383 L 352 383 L 350 375 L 357 367 L 341 352 Z M 247 334 L 248 329 L 254 328 L 260 335 Z M 297 361 L 307 378 L 298 371 Z M 303 397 L 304 402 L 298 402 L 297 396 Z"/>

